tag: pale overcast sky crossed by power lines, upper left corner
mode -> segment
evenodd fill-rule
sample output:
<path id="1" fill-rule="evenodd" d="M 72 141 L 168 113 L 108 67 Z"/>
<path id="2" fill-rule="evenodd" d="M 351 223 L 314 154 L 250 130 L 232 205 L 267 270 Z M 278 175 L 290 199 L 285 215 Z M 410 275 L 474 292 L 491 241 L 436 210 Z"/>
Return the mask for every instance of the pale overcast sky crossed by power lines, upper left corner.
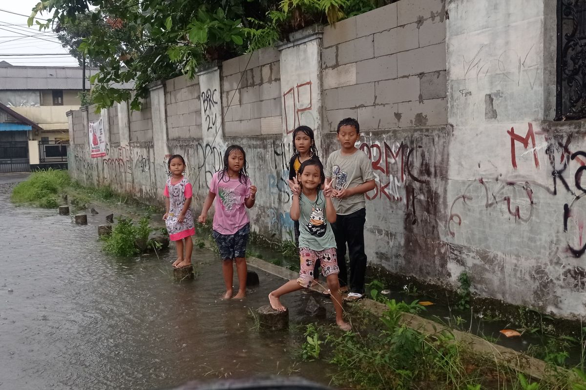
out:
<path id="1" fill-rule="evenodd" d="M 55 33 L 51 30 L 39 32 L 36 25 L 30 28 L 26 26 L 31 9 L 38 2 L 39 0 L 0 2 L 0 61 L 12 65 L 79 66 L 77 60 L 61 46 Z M 46 13 L 37 16 L 46 18 Z"/>

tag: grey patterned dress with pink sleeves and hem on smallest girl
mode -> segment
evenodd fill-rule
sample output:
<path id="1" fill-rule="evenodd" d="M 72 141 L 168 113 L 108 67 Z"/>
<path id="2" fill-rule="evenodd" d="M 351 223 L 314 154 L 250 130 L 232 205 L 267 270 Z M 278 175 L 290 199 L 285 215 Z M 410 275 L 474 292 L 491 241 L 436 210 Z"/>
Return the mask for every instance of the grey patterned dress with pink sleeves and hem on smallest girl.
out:
<path id="1" fill-rule="evenodd" d="M 185 201 L 193 196 L 193 189 L 185 177 L 175 184 L 172 184 L 172 179 L 172 177 L 168 178 L 165 191 L 163 191 L 163 194 L 169 198 L 169 215 L 165 223 L 169 232 L 169 239 L 171 241 L 178 241 L 185 237 L 195 235 L 193 214 L 190 208 L 185 212 L 183 222 L 177 221 L 181 210 L 183 210 Z"/>

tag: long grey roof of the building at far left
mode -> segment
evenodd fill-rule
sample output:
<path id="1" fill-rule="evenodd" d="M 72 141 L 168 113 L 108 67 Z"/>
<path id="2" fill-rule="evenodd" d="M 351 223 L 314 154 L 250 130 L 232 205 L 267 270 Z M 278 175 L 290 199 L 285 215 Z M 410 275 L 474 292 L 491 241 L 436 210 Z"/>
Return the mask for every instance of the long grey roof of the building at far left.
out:
<path id="1" fill-rule="evenodd" d="M 4 62 L 0 63 L 0 90 L 82 89 L 81 67 L 15 66 Z M 86 89 L 91 87 L 87 78 L 97 71 L 97 68 L 86 68 Z M 132 89 L 132 84 L 113 84 L 112 87 Z"/>

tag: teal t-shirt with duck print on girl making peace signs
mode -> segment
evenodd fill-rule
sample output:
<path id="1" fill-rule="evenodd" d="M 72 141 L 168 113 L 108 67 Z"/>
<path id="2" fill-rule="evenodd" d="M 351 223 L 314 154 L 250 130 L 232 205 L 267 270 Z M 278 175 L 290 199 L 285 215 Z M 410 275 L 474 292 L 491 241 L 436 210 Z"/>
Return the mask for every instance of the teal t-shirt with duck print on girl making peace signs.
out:
<path id="1" fill-rule="evenodd" d="M 332 226 L 326 217 L 326 198 L 318 191 L 315 201 L 301 194 L 299 199 L 299 247 L 324 250 L 336 247 Z"/>

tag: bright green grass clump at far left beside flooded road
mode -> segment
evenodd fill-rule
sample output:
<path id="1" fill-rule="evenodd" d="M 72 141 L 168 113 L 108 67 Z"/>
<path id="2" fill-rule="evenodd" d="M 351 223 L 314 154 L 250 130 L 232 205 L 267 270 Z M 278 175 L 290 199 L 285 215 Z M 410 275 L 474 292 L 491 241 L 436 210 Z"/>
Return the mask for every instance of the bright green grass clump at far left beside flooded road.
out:
<path id="1" fill-rule="evenodd" d="M 59 206 L 59 195 L 70 184 L 69 173 L 62 170 L 39 170 L 12 190 L 12 202 L 30 203 L 43 208 Z"/>

